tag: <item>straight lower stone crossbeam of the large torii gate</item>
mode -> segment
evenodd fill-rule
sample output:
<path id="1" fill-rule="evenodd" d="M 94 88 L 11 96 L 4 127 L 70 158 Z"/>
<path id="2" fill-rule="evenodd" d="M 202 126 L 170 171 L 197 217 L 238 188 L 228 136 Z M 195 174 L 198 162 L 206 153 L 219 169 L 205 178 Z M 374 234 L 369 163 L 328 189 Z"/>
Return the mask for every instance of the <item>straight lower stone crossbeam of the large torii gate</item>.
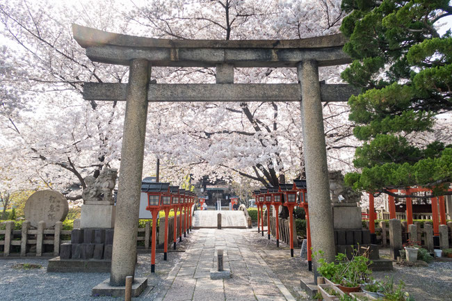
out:
<path id="1" fill-rule="evenodd" d="M 126 100 L 125 83 L 84 85 L 83 99 Z M 324 83 L 320 84 L 320 92 L 324 102 L 345 102 L 360 93 L 350 85 Z M 159 83 L 147 88 L 147 101 L 300 101 L 301 98 L 297 83 Z"/>

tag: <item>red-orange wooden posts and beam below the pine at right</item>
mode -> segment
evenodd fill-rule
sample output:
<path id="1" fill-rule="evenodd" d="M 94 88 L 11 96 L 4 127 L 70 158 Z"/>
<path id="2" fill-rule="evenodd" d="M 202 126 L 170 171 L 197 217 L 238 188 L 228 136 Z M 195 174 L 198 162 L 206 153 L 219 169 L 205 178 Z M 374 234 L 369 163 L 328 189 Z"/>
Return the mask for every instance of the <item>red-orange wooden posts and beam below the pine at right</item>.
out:
<path id="1" fill-rule="evenodd" d="M 398 190 L 389 190 L 392 193 L 397 192 Z M 406 189 L 401 190 L 402 193 L 406 195 L 411 195 L 412 193 L 421 193 L 421 192 L 432 192 L 432 190 L 428 188 L 422 187 L 408 187 Z M 449 191 L 452 191 L 452 188 L 449 188 Z M 406 197 L 406 215 L 407 215 L 407 223 L 408 225 L 413 224 L 413 207 L 412 207 L 412 198 Z M 444 204 L 444 195 L 440 195 L 438 197 L 432 197 L 432 220 L 433 220 L 433 235 L 439 235 L 439 225 L 446 225 L 446 206 Z M 392 195 L 388 195 L 389 201 L 389 218 L 396 218 L 396 202 Z M 439 214 L 438 214 L 439 213 Z M 376 220 L 376 212 L 375 205 L 373 203 L 373 194 L 369 193 L 369 230 L 371 234 L 375 234 L 375 220 Z"/>

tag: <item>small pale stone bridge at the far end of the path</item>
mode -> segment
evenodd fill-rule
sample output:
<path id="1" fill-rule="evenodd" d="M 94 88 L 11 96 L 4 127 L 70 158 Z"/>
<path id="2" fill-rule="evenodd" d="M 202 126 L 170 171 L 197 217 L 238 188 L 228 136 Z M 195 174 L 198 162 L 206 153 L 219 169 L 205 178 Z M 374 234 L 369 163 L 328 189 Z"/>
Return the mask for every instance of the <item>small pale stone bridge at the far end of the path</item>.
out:
<path id="1" fill-rule="evenodd" d="M 245 211 L 197 210 L 193 213 L 193 229 L 216 228 L 218 226 L 218 213 L 221 213 L 222 228 L 248 228 Z"/>

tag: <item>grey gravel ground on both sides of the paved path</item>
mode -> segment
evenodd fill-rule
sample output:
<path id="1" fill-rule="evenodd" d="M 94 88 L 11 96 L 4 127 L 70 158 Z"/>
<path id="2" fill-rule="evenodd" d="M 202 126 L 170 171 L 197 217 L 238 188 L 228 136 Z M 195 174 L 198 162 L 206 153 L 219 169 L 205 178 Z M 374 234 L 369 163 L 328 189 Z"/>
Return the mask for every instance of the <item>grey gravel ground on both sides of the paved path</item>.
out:
<path id="1" fill-rule="evenodd" d="M 195 230 L 196 231 L 196 230 Z M 256 252 L 271 267 L 275 275 L 289 289 L 297 300 L 309 300 L 300 289 L 300 278 L 312 275 L 307 271 L 306 261 L 299 257 L 290 257 L 289 246 L 280 242 L 276 247 L 275 238 L 268 241 L 266 236 L 257 234 L 257 229 L 245 231 L 245 237 Z M 178 249 L 184 250 L 190 243 L 191 236 L 184 238 Z M 381 254 L 386 254 L 382 250 Z M 170 270 L 179 262 L 182 252 L 168 253 L 168 261 L 163 261 L 163 254 L 156 254 L 156 273 L 150 272 L 150 254 L 138 254 L 136 277 L 147 277 L 148 288 L 134 300 L 154 300 L 159 293 L 160 285 L 165 281 Z M 300 254 L 300 249 L 295 250 Z M 112 297 L 91 297 L 91 288 L 109 277 L 109 273 L 47 273 L 48 259 L 0 259 L 0 300 L 1 301 L 34 301 L 34 300 L 122 300 Z M 43 268 L 25 270 L 13 268 L 18 263 L 36 263 Z M 376 279 L 384 279 L 386 275 L 394 276 L 396 282 L 403 280 L 405 290 L 415 300 L 452 300 L 452 261 L 435 261 L 426 267 L 407 267 L 394 264 L 393 271 L 373 272 Z"/>

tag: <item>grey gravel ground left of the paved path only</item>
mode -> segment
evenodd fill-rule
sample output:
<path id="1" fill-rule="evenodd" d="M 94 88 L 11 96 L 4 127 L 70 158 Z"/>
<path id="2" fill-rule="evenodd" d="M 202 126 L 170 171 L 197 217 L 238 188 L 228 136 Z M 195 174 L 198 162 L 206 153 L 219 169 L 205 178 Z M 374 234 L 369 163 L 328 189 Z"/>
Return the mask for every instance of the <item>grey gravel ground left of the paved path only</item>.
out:
<path id="1" fill-rule="evenodd" d="M 184 250 L 190 235 L 178 243 Z M 156 254 L 156 272 L 152 275 L 150 254 L 138 254 L 136 277 L 147 277 L 148 288 L 133 300 L 153 300 L 159 293 L 161 284 L 170 270 L 179 262 L 183 252 L 169 252 L 168 261 L 163 261 L 163 253 Z M 91 272 L 47 272 L 47 259 L 35 257 L 20 259 L 0 259 L 0 300 L 1 301 L 53 301 L 53 300 L 124 300 L 115 297 L 92 297 L 91 289 L 110 277 L 110 273 Z M 14 268 L 18 263 L 35 263 L 39 269 Z"/>

